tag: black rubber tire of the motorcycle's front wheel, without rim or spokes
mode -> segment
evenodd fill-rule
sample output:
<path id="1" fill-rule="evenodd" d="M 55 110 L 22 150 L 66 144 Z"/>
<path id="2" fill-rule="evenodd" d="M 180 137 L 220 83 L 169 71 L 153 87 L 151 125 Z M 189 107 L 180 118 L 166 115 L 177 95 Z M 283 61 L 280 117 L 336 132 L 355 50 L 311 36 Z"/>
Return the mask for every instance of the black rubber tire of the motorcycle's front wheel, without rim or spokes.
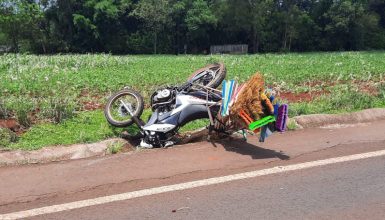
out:
<path id="1" fill-rule="evenodd" d="M 112 114 L 112 107 L 114 104 L 116 104 L 115 102 L 119 99 L 119 98 L 122 98 L 124 96 L 130 96 L 130 97 L 133 97 L 135 99 L 135 103 L 130 103 L 130 105 L 134 105 L 135 106 L 135 110 L 133 112 L 133 115 L 134 116 L 137 116 L 138 118 L 142 115 L 143 113 L 143 109 L 144 109 L 144 102 L 143 102 L 143 97 L 136 91 L 134 90 L 131 90 L 131 89 L 123 89 L 115 94 L 113 94 L 107 101 L 107 104 L 106 104 L 106 107 L 104 108 L 104 115 L 108 121 L 108 123 L 110 123 L 111 125 L 115 126 L 115 127 L 127 127 L 127 126 L 130 126 L 134 123 L 134 121 L 132 120 L 132 118 L 130 119 L 127 119 L 127 120 L 123 120 L 123 121 L 120 121 L 120 120 L 116 120 Z M 121 108 L 121 107 L 120 107 Z M 117 109 L 114 109 L 114 111 L 117 110 Z M 120 113 L 122 114 L 122 113 Z M 128 113 L 126 113 L 126 116 L 129 116 Z"/>

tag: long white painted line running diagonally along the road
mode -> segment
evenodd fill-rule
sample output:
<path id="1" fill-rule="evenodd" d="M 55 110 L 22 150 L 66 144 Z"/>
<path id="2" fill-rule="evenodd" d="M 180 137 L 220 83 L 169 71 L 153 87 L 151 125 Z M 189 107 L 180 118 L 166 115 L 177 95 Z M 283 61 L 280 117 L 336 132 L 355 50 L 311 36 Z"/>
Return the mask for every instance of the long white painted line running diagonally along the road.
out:
<path id="1" fill-rule="evenodd" d="M 56 212 L 67 211 L 72 209 L 79 209 L 79 208 L 84 208 L 84 207 L 89 207 L 94 205 L 102 205 L 106 203 L 123 201 L 123 200 L 143 197 L 143 196 L 156 195 L 156 194 L 165 193 L 165 192 L 192 189 L 196 187 L 209 186 L 209 185 L 214 185 L 219 183 L 230 182 L 234 180 L 248 179 L 248 178 L 253 178 L 258 176 L 265 176 L 269 174 L 284 173 L 288 171 L 302 170 L 302 169 L 307 169 L 312 167 L 319 167 L 319 166 L 325 166 L 329 164 L 367 159 L 367 158 L 379 157 L 384 155 L 385 155 L 385 150 L 380 150 L 380 151 L 354 154 L 354 155 L 343 156 L 343 157 L 329 158 L 325 160 L 316 160 L 316 161 L 293 164 L 288 166 L 278 166 L 278 167 L 273 167 L 273 168 L 268 168 L 263 170 L 255 170 L 251 172 L 238 173 L 238 174 L 222 176 L 222 177 L 214 177 L 214 178 L 197 180 L 192 182 L 186 182 L 186 183 L 180 183 L 180 184 L 174 184 L 174 185 L 168 185 L 168 186 L 155 187 L 150 189 L 143 189 L 143 190 L 138 190 L 133 192 L 121 193 L 116 195 L 98 197 L 94 199 L 87 199 L 87 200 L 64 203 L 59 205 L 52 205 L 52 206 L 47 206 L 42 208 L 30 209 L 26 211 L 2 214 L 0 215 L 0 219 L 27 218 L 27 217 L 37 216 L 37 215 L 56 213 Z"/>

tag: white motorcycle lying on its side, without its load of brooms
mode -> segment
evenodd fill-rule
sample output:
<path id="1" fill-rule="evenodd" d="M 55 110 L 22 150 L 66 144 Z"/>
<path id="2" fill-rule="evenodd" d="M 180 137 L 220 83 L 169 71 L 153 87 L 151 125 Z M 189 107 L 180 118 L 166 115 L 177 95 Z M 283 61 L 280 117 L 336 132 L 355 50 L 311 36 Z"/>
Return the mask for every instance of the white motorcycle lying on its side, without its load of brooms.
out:
<path id="1" fill-rule="evenodd" d="M 143 97 L 125 88 L 107 101 L 104 113 L 116 127 L 136 124 L 140 128 L 140 146 L 145 148 L 174 145 L 179 129 L 194 120 L 210 119 L 210 129 L 220 111 L 222 94 L 216 90 L 226 77 L 222 63 L 210 64 L 195 71 L 186 83 L 158 89 L 150 98 L 152 115 L 147 122 L 140 117 L 144 109 Z"/>

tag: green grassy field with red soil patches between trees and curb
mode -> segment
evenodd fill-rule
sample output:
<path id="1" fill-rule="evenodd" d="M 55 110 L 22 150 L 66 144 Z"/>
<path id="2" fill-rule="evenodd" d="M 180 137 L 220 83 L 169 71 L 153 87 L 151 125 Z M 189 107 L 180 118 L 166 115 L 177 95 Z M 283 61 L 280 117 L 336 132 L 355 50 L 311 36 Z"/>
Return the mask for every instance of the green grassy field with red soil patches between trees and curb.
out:
<path id="1" fill-rule="evenodd" d="M 109 126 L 102 111 L 92 106 L 103 104 L 124 86 L 148 98 L 157 87 L 182 83 L 191 72 L 212 62 L 224 62 L 228 79 L 245 81 L 260 71 L 267 84 L 281 92 L 320 94 L 311 101 L 289 103 L 291 116 L 385 107 L 384 51 L 223 56 L 8 54 L 0 58 L 0 120 L 16 118 L 26 131 L 8 148 L 38 149 L 116 136 L 121 130 Z M 189 124 L 183 130 L 203 124 Z"/>

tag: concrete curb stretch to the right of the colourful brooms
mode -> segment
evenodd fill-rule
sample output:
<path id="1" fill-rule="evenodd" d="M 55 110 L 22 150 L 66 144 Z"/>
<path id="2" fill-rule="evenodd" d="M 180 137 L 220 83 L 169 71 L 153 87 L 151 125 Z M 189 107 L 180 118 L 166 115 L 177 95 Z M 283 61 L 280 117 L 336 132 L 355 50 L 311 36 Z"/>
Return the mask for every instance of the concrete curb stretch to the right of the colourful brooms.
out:
<path id="1" fill-rule="evenodd" d="M 358 124 L 385 120 L 385 108 L 366 109 L 343 114 L 301 115 L 293 118 L 298 128 L 314 128 L 336 124 Z"/>

